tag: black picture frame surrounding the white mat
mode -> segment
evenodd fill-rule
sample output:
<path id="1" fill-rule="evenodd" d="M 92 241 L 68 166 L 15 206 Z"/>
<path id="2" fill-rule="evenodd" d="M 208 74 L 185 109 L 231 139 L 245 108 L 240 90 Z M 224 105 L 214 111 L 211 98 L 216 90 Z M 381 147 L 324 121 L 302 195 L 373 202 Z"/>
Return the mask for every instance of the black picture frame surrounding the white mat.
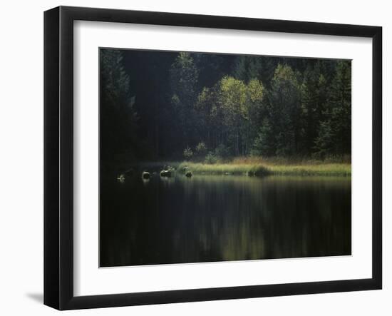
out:
<path id="1" fill-rule="evenodd" d="M 372 277 L 360 280 L 73 295 L 73 21 L 357 36 L 372 39 Z M 382 28 L 59 6 L 44 13 L 44 304 L 58 310 L 378 290 L 382 287 Z"/>

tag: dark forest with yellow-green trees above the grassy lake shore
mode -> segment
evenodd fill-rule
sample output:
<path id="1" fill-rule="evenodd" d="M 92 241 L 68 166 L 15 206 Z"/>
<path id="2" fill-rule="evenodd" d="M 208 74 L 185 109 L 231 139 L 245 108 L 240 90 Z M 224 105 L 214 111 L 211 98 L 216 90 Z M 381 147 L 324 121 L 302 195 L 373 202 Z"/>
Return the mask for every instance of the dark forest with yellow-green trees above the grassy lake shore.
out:
<path id="1" fill-rule="evenodd" d="M 351 160 L 351 61 L 100 49 L 101 164 Z"/>

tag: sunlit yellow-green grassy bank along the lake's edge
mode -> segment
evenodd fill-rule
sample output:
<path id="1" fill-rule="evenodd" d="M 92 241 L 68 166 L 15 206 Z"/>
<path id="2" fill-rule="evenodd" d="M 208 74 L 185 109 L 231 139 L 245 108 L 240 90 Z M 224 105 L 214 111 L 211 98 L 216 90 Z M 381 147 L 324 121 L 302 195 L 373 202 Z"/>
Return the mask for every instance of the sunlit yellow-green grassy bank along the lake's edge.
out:
<path id="1" fill-rule="evenodd" d="M 177 170 L 192 170 L 195 174 L 214 175 L 351 175 L 351 163 L 325 163 L 319 160 L 262 160 L 261 158 L 237 158 L 229 163 L 183 162 Z"/>

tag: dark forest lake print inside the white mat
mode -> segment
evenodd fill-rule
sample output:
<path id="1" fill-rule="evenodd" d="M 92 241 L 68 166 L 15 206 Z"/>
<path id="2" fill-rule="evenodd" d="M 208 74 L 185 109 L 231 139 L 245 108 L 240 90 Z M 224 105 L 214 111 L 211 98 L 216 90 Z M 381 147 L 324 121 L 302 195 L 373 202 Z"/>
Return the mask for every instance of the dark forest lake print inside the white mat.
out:
<path id="1" fill-rule="evenodd" d="M 100 48 L 100 267 L 351 255 L 351 61 Z"/>

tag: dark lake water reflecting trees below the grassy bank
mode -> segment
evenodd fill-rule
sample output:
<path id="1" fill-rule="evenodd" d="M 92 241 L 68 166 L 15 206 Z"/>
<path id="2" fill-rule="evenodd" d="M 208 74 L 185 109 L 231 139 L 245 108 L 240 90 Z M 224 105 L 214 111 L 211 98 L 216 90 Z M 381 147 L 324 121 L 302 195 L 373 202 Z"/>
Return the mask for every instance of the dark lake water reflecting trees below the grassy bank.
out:
<path id="1" fill-rule="evenodd" d="M 101 267 L 332 255 L 351 255 L 349 177 L 101 177 Z"/>

